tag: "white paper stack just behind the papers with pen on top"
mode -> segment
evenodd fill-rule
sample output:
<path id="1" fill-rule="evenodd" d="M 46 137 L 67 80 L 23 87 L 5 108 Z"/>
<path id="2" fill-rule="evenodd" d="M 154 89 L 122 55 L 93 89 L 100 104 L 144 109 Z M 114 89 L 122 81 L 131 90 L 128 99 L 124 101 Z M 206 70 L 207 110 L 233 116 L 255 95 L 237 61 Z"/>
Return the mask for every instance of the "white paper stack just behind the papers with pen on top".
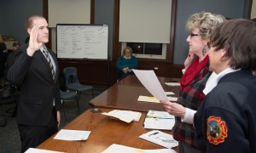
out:
<path id="1" fill-rule="evenodd" d="M 166 111 L 148 111 L 145 121 L 143 122 L 144 128 L 149 129 L 163 129 L 172 130 L 175 124 L 174 116 Z"/>

